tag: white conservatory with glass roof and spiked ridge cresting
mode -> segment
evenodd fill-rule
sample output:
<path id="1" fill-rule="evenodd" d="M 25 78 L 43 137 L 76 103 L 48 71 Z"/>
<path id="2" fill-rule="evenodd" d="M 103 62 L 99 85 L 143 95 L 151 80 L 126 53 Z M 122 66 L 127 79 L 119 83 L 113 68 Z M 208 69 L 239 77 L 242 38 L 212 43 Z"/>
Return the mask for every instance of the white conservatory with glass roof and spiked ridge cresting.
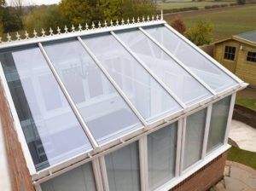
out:
<path id="1" fill-rule="evenodd" d="M 162 16 L 41 33 L 0 43 L 36 190 L 169 190 L 230 148 L 247 84 Z"/>

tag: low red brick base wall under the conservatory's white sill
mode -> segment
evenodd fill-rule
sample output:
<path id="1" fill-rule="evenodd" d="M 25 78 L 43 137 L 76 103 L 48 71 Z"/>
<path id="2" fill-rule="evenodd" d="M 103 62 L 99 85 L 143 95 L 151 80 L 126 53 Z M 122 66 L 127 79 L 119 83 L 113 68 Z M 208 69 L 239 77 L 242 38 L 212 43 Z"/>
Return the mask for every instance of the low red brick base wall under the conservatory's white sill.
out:
<path id="1" fill-rule="evenodd" d="M 193 175 L 179 183 L 171 191 L 204 191 L 223 178 L 227 153 L 219 155 Z"/>

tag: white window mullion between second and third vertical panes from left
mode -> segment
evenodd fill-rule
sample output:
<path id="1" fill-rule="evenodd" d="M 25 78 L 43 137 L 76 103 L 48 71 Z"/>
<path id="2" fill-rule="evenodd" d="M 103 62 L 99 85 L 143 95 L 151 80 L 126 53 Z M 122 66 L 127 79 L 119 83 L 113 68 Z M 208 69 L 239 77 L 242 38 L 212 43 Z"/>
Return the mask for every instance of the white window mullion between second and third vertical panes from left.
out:
<path id="1" fill-rule="evenodd" d="M 148 190 L 148 143 L 147 136 L 139 140 L 141 190 Z"/>

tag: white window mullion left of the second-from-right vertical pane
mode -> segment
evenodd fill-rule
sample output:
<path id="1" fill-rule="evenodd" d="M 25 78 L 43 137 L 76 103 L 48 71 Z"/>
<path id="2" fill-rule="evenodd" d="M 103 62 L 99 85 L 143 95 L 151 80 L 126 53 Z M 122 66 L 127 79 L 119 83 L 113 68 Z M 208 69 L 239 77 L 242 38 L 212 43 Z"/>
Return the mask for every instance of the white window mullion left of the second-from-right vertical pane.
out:
<path id="1" fill-rule="evenodd" d="M 177 150 L 176 150 L 175 177 L 179 177 L 181 174 L 180 163 L 181 163 L 182 134 L 183 134 L 183 119 L 179 119 L 177 124 Z"/>

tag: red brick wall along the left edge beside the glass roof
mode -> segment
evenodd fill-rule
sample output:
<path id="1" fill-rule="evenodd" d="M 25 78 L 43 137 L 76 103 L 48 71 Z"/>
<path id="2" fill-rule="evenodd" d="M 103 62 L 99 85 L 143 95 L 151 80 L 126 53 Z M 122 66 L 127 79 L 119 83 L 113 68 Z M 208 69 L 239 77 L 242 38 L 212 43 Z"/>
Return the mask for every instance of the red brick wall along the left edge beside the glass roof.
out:
<path id="1" fill-rule="evenodd" d="M 9 162 L 11 187 L 14 191 L 33 191 L 31 177 L 26 167 L 26 161 L 15 131 L 8 103 L 3 94 L 0 82 L 0 118 L 3 126 L 3 136 Z"/>

